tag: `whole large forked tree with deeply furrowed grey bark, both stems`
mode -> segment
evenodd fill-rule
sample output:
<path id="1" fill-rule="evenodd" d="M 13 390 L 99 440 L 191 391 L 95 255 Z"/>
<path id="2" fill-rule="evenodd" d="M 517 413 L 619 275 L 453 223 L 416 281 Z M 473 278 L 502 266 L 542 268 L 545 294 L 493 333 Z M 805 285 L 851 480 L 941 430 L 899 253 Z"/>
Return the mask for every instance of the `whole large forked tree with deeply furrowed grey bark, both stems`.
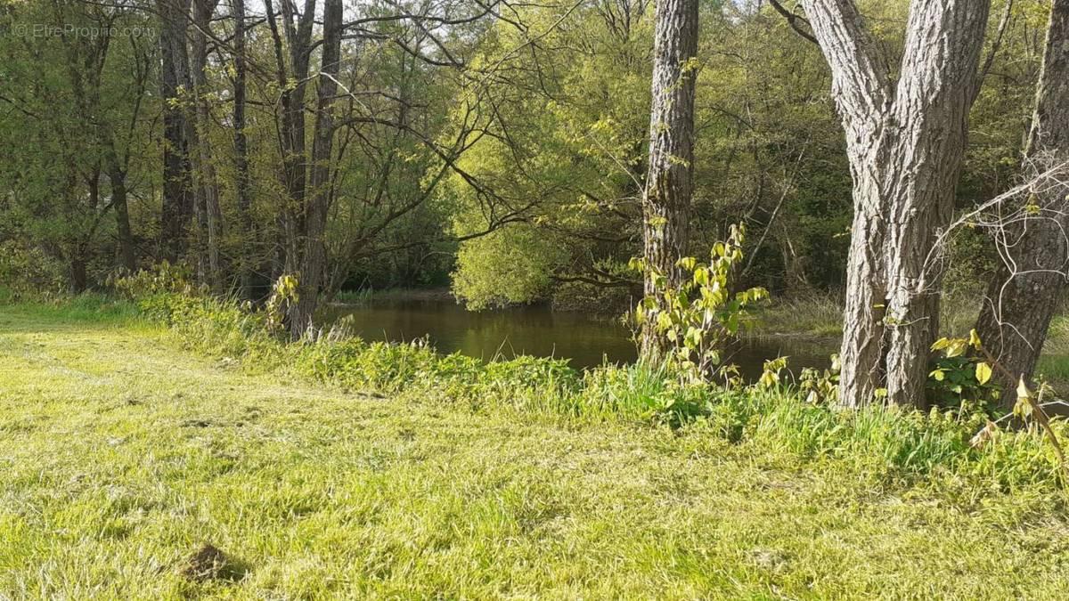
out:
<path id="1" fill-rule="evenodd" d="M 852 0 L 803 5 L 832 71 L 854 181 L 840 401 L 872 402 L 886 374 L 890 402 L 923 405 L 939 322 L 939 279 L 924 259 L 949 221 L 990 2 L 915 0 L 897 84 Z"/>

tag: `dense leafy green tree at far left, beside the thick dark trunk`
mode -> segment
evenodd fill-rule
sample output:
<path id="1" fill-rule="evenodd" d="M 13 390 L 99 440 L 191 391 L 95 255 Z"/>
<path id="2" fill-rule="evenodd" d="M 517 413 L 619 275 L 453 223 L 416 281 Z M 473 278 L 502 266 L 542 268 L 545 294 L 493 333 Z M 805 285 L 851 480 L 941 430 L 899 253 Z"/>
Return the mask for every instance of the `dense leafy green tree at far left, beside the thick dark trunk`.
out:
<path id="1" fill-rule="evenodd" d="M 77 32 L 133 31 L 142 21 L 124 3 L 27 3 L 4 16 L 67 24 L 75 33 L 0 41 L 0 130 L 10 149 L 0 169 L 0 240 L 64 264 L 67 288 L 81 292 L 100 272 L 136 262 L 128 203 L 143 182 L 152 61 L 137 35 Z"/>

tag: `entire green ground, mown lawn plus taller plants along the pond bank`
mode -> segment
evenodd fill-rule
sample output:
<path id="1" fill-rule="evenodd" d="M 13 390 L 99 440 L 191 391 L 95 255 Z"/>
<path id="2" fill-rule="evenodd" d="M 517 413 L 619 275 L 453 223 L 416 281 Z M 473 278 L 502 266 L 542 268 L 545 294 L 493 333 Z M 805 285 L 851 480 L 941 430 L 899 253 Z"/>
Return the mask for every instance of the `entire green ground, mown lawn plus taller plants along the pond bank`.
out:
<path id="1" fill-rule="evenodd" d="M 0 590 L 16 595 L 1069 586 L 1051 447 L 1004 430 L 974 448 L 976 414 L 843 412 L 786 382 L 580 375 L 339 332 L 289 343 L 260 313 L 173 293 L 2 302 Z M 190 580 L 203 544 L 226 569 Z"/>

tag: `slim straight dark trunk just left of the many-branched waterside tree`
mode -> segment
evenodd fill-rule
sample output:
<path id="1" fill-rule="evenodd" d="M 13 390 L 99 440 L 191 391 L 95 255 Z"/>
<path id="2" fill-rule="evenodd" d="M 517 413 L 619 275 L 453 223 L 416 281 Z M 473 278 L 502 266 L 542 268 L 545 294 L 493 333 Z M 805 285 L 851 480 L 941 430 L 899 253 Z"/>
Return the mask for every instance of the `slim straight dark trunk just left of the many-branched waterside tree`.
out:
<path id="1" fill-rule="evenodd" d="M 252 214 L 249 199 L 249 151 L 245 135 L 245 0 L 233 0 L 234 11 L 234 170 L 237 175 L 237 211 L 242 219 L 238 287 L 242 298 L 252 298 Z"/>

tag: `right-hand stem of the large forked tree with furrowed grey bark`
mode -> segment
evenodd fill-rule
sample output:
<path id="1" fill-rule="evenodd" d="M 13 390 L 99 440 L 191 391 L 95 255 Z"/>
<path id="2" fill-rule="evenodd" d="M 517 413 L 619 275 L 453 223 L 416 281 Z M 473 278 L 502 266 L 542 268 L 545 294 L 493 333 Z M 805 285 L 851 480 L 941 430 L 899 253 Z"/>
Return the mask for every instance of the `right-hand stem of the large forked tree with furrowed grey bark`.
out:
<path id="1" fill-rule="evenodd" d="M 887 399 L 926 406 L 942 277 L 930 263 L 954 215 L 990 2 L 915 0 L 892 112 L 894 169 L 887 225 Z"/>

